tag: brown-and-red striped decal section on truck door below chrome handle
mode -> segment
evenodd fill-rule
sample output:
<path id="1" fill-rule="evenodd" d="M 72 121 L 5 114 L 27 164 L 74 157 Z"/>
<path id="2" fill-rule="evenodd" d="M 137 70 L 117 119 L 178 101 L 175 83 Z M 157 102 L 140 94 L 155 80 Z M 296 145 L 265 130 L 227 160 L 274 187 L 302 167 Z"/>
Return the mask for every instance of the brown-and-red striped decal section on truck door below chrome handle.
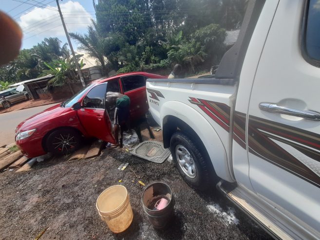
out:
<path id="1" fill-rule="evenodd" d="M 320 135 L 249 116 L 248 150 L 320 187 Z"/>

